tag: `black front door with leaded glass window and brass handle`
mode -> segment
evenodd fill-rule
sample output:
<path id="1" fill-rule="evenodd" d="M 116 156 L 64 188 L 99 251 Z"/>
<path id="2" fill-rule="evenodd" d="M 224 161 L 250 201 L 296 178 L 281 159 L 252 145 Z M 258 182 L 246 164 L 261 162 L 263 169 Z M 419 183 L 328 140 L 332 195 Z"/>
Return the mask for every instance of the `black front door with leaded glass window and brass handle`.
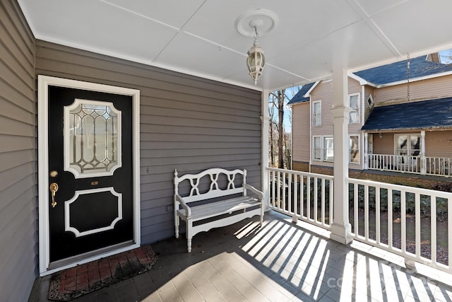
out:
<path id="1" fill-rule="evenodd" d="M 50 262 L 133 240 L 132 97 L 48 88 Z"/>

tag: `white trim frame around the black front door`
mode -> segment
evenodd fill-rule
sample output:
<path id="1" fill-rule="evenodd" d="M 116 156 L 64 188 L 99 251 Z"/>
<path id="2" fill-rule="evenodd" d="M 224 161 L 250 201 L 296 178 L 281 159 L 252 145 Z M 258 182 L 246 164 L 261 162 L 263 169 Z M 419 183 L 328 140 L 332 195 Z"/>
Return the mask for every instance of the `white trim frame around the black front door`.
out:
<path id="1" fill-rule="evenodd" d="M 132 153 L 133 153 L 133 243 L 116 250 L 109 250 L 101 255 L 78 259 L 61 267 L 50 269 L 49 250 L 49 158 L 48 158 L 48 86 L 76 88 L 103 93 L 130 95 L 132 97 Z M 37 76 L 37 151 L 38 151 L 38 216 L 39 216 L 39 259 L 40 276 L 52 274 L 61 269 L 74 267 L 100 257 L 114 255 L 119 252 L 138 248 L 140 246 L 140 91 L 131 88 L 109 86 L 71 79 L 61 79 L 53 76 Z"/>

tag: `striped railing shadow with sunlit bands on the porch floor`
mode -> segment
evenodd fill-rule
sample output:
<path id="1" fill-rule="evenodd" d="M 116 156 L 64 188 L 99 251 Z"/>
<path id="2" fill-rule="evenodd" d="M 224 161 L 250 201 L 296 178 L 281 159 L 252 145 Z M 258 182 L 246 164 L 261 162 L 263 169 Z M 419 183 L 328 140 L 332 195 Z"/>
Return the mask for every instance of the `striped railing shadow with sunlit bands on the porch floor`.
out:
<path id="1" fill-rule="evenodd" d="M 415 271 L 355 250 L 350 245 L 320 238 L 287 220 L 270 221 L 237 253 L 254 267 L 270 270 L 266 272 L 270 280 L 302 301 L 328 298 L 333 301 L 451 299 L 448 296 L 451 289 L 445 284 L 437 286 L 437 281 Z M 287 225 L 291 231 L 281 234 Z M 260 236 L 259 232 L 266 228 L 275 231 L 266 230 L 265 235 Z"/>

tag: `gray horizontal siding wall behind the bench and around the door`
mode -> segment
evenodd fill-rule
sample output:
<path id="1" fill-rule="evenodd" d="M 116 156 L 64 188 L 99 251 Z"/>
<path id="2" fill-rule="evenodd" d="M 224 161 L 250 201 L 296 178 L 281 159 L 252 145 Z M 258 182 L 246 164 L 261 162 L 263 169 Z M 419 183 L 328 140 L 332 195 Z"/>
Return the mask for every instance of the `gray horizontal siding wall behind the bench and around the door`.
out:
<path id="1" fill-rule="evenodd" d="M 174 169 L 246 168 L 261 187 L 261 93 L 37 41 L 36 73 L 141 91 L 143 243 L 174 236 Z"/>

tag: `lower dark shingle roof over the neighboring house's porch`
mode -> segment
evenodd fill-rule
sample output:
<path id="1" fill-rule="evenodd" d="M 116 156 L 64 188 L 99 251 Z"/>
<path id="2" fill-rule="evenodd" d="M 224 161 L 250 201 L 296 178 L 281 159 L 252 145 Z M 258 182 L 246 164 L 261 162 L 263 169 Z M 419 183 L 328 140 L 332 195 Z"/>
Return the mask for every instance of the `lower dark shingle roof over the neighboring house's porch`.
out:
<path id="1" fill-rule="evenodd" d="M 452 127 L 452 98 L 376 107 L 362 130 L 434 129 Z"/>

